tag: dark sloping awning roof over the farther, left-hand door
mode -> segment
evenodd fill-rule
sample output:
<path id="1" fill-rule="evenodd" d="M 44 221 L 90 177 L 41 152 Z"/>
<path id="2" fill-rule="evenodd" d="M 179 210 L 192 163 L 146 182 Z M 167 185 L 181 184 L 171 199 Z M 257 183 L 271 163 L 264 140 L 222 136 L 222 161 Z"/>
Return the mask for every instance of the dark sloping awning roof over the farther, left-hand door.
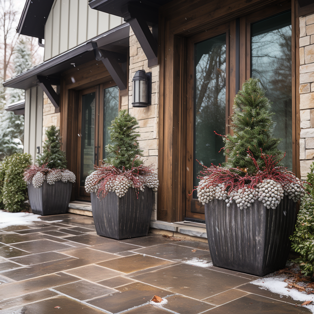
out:
<path id="1" fill-rule="evenodd" d="M 129 47 L 128 23 L 121 24 L 106 33 L 96 36 L 85 43 L 74 47 L 60 55 L 53 57 L 38 66 L 27 70 L 3 83 L 4 87 L 29 89 L 38 84 L 37 75 L 60 78 L 61 73 L 81 64 L 95 60 L 94 48 L 102 48 L 108 51 L 127 53 Z M 95 43 L 97 45 L 95 45 Z"/>

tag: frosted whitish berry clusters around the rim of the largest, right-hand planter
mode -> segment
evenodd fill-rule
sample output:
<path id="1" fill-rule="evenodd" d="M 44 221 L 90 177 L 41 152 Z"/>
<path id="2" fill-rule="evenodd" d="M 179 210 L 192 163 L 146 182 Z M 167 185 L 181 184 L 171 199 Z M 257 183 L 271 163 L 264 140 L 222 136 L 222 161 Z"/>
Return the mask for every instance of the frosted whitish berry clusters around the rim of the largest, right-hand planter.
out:
<path id="1" fill-rule="evenodd" d="M 208 204 L 213 199 L 223 199 L 228 207 L 235 201 L 241 209 L 250 207 L 256 199 L 262 202 L 268 209 L 275 209 L 284 195 L 288 195 L 294 202 L 298 202 L 304 196 L 300 180 L 297 180 L 296 183 L 287 184 L 284 187 L 273 180 L 263 180 L 263 182 L 257 184 L 255 189 L 244 186 L 237 191 L 230 192 L 229 195 L 223 184 L 206 187 L 206 180 L 201 180 L 197 187 L 197 192 L 198 200 L 203 205 Z"/>

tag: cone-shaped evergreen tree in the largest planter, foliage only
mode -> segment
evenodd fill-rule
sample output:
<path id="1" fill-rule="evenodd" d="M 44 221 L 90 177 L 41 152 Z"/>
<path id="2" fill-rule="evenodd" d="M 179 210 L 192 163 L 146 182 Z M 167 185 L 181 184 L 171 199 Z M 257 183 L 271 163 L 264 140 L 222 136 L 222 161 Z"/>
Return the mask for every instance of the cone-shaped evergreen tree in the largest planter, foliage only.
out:
<path id="1" fill-rule="evenodd" d="M 233 135 L 224 137 L 224 154 L 228 157 L 226 166 L 246 169 L 249 174 L 256 172 L 256 166 L 248 156 L 248 150 L 260 168 L 265 165 L 261 149 L 263 154 L 272 155 L 276 160 L 283 157 L 283 152 L 277 148 L 281 139 L 273 137 L 274 113 L 270 111 L 271 103 L 258 83 L 259 80 L 254 78 L 245 81 L 234 98 L 230 124 Z"/>

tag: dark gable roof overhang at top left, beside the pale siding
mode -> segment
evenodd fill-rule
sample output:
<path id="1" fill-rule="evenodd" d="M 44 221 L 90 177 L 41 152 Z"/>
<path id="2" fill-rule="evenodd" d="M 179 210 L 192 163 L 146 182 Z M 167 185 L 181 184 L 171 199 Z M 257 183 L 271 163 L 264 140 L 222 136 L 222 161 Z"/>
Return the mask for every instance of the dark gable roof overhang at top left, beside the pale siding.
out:
<path id="1" fill-rule="evenodd" d="M 19 34 L 44 39 L 45 24 L 54 0 L 26 0 L 19 25 Z"/>

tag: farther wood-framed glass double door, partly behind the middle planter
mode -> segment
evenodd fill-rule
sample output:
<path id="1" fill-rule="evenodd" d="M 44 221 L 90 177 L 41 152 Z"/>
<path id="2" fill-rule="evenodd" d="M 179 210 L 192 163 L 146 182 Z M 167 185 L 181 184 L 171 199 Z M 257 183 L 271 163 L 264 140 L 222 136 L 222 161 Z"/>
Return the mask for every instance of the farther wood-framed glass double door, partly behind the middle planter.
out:
<path id="1" fill-rule="evenodd" d="M 94 165 L 100 166 L 106 158 L 108 127 L 119 110 L 119 89 L 114 83 L 83 89 L 78 93 L 78 102 L 76 199 L 89 201 L 85 180 L 94 171 Z"/>

